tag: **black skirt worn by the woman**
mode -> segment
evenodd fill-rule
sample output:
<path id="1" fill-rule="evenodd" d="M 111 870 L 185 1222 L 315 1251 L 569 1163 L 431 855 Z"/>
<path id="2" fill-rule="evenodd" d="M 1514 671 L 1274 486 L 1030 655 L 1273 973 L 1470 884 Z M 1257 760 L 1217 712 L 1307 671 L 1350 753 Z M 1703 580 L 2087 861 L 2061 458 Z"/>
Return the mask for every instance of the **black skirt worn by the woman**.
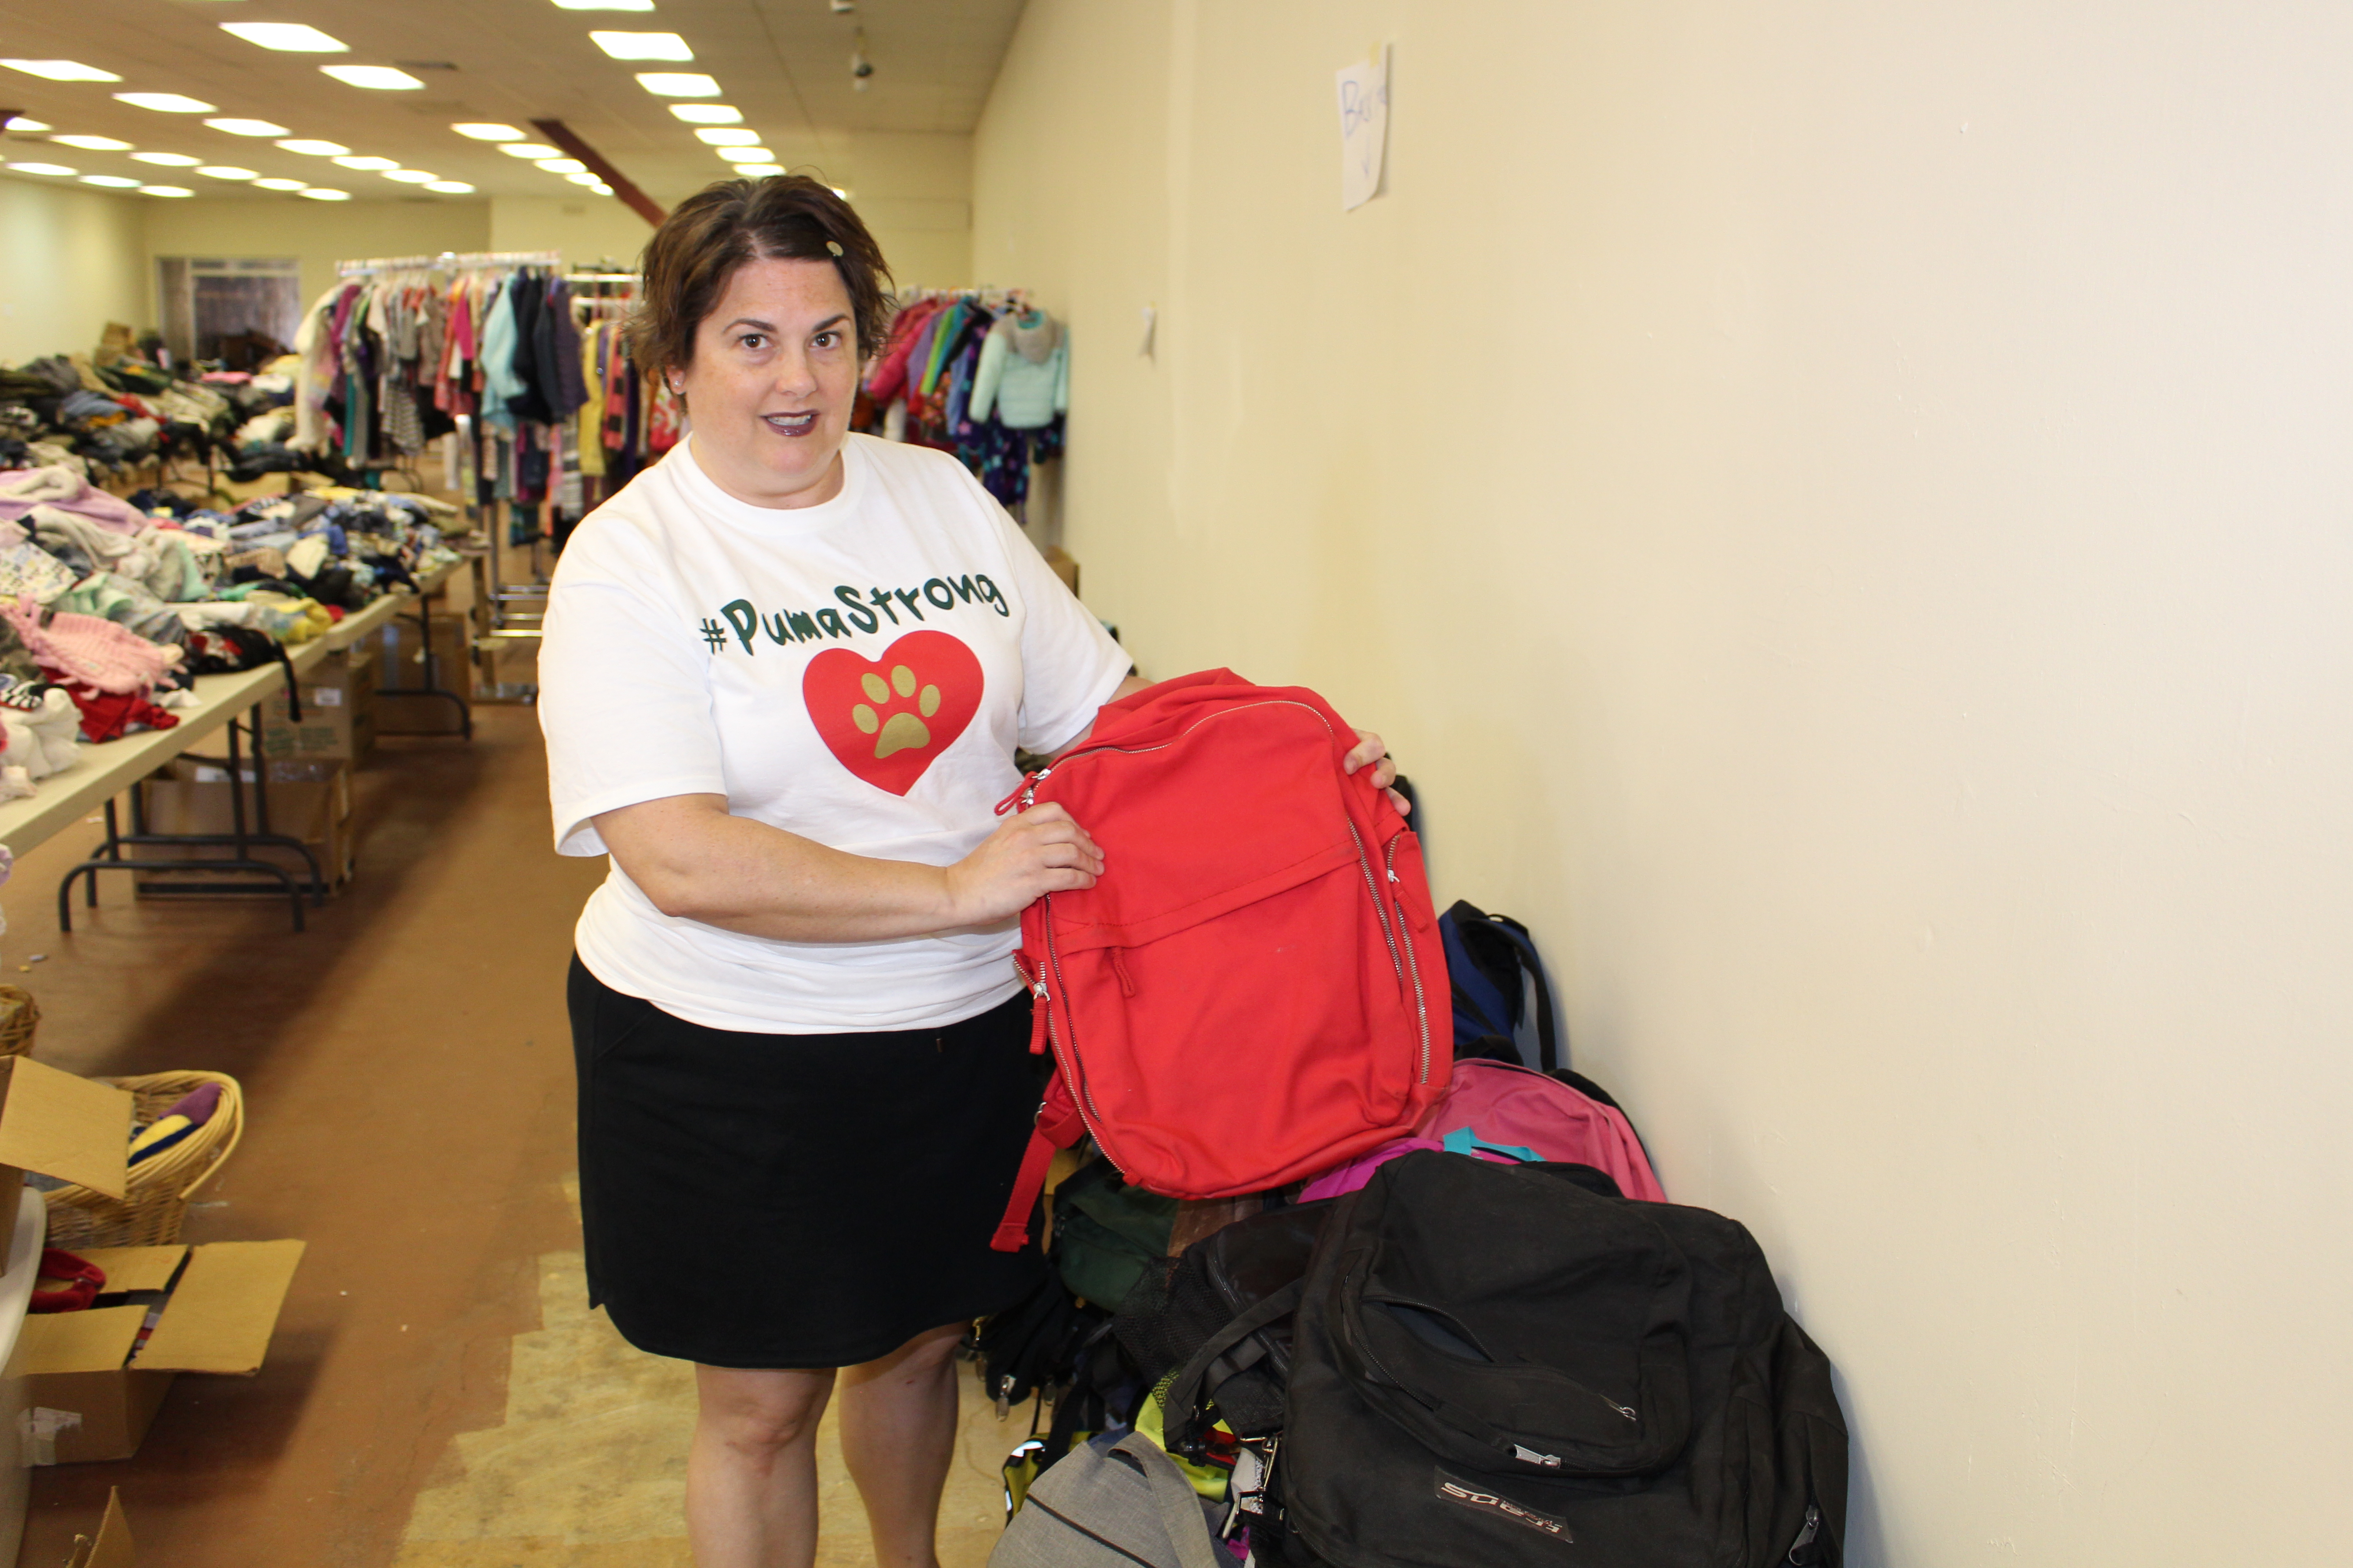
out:
<path id="1" fill-rule="evenodd" d="M 1045 1274 L 988 1251 L 1038 1114 L 1028 992 L 939 1030 L 746 1034 L 572 959 L 588 1305 L 704 1366 L 856 1366 Z"/>

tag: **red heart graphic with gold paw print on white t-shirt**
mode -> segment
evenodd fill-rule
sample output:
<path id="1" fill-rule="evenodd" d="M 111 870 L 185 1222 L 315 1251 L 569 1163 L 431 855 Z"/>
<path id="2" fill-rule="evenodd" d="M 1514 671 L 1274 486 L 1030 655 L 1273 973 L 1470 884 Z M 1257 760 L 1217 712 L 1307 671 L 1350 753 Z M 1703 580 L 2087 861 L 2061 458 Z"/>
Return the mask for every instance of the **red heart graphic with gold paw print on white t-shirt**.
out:
<path id="1" fill-rule="evenodd" d="M 800 675 L 809 722 L 845 769 L 906 795 L 981 710 L 981 661 L 948 632 L 908 632 L 859 658 L 826 649 Z"/>

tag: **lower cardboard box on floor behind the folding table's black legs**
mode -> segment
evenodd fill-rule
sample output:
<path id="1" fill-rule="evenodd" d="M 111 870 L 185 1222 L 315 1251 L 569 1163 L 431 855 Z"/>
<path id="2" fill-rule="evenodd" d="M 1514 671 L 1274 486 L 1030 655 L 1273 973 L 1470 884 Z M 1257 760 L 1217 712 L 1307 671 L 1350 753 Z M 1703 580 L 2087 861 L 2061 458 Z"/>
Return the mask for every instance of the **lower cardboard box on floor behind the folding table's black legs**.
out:
<path id="1" fill-rule="evenodd" d="M 351 832 L 351 764 L 332 759 L 285 759 L 268 762 L 264 766 L 268 769 L 271 780 L 271 832 L 301 839 L 318 860 L 318 875 L 329 889 L 339 889 L 351 882 L 358 853 L 358 844 Z M 252 769 L 247 769 L 245 830 L 259 832 L 259 823 L 254 823 L 252 780 Z M 139 785 L 139 790 L 146 799 L 148 832 L 226 835 L 235 830 L 235 813 L 228 799 L 228 769 L 224 766 L 176 757 L 155 769 L 155 773 Z M 233 860 L 238 849 L 233 844 L 132 844 L 125 853 L 129 853 L 132 860 Z M 249 846 L 249 853 L 254 860 L 287 867 L 296 879 L 308 882 L 311 877 L 311 867 L 304 865 L 304 858 L 282 844 L 254 844 Z M 158 872 L 134 877 L 141 893 L 155 893 L 158 889 L 174 886 L 188 889 L 195 879 L 195 872 Z M 285 884 L 268 877 L 240 875 L 233 879 L 224 877 L 219 886 L 207 886 L 202 891 L 224 896 L 268 893 L 282 898 Z"/>

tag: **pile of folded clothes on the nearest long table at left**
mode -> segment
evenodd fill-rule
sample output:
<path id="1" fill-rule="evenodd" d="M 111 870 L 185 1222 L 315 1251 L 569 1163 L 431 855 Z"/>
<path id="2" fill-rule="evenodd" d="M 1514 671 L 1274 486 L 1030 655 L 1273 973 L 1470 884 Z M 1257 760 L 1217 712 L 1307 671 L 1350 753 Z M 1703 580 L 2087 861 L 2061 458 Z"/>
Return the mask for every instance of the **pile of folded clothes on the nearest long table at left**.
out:
<path id="1" fill-rule="evenodd" d="M 80 741 L 169 729 L 198 675 L 280 658 L 456 559 L 426 496 L 325 489 L 207 510 L 68 465 L 0 473 L 0 799 Z"/>

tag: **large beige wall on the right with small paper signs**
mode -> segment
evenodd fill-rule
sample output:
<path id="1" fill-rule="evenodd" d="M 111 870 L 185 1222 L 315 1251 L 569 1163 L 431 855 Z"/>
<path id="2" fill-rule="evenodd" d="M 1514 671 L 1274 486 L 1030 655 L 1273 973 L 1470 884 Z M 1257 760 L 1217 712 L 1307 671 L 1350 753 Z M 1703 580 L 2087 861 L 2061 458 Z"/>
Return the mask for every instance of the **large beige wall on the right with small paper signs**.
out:
<path id="1" fill-rule="evenodd" d="M 1031 0 L 976 136 L 1089 602 L 1393 741 L 1838 1359 L 1857 1563 L 2341 1552 L 2348 47 Z"/>

